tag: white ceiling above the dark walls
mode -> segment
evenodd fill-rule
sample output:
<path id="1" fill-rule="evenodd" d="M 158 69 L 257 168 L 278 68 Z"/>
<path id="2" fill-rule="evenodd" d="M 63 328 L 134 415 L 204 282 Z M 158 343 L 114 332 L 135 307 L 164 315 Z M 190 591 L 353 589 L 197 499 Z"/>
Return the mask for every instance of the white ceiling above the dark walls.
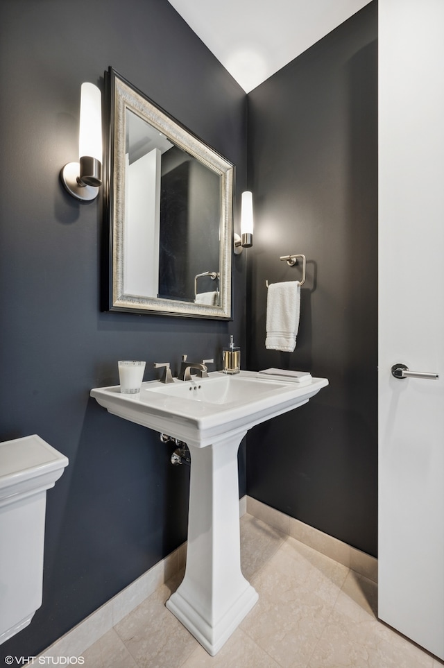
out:
<path id="1" fill-rule="evenodd" d="M 370 0 L 169 0 L 248 93 Z"/>

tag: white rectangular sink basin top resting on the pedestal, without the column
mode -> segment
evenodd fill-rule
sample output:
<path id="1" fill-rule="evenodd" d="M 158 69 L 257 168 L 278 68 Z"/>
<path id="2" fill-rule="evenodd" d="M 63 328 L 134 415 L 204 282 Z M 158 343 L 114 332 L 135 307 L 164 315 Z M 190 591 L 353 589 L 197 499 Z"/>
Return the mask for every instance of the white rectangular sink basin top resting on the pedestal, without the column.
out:
<path id="1" fill-rule="evenodd" d="M 302 385 L 253 371 L 213 371 L 191 382 L 142 383 L 136 395 L 112 386 L 95 388 L 91 396 L 114 415 L 205 447 L 307 403 L 327 384 L 325 378 Z"/>

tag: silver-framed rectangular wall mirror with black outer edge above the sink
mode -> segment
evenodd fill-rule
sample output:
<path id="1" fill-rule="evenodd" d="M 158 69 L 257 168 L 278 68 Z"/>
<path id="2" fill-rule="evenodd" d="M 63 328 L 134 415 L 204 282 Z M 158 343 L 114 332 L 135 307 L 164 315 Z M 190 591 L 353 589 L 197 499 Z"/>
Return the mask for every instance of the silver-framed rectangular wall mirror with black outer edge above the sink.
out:
<path id="1" fill-rule="evenodd" d="M 231 318 L 234 166 L 108 72 L 108 310 Z"/>

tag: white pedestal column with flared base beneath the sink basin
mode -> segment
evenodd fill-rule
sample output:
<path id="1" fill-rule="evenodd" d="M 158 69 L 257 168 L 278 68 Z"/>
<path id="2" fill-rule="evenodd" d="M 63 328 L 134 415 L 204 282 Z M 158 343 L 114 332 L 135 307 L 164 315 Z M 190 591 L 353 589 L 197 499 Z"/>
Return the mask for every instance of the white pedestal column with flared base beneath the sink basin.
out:
<path id="1" fill-rule="evenodd" d="M 241 573 L 237 451 L 246 431 L 189 446 L 187 565 L 167 608 L 212 656 L 257 601 Z"/>

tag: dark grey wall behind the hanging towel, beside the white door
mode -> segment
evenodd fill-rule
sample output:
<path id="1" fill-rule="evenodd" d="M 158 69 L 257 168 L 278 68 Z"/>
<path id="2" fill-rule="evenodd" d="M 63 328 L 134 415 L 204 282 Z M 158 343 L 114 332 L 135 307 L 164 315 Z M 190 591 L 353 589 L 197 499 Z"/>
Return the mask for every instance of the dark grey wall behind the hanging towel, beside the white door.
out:
<path id="1" fill-rule="evenodd" d="M 330 386 L 248 434 L 248 494 L 376 554 L 377 5 L 248 96 L 248 368 L 309 370 Z M 266 350 L 266 286 L 307 255 L 293 353 Z"/>

